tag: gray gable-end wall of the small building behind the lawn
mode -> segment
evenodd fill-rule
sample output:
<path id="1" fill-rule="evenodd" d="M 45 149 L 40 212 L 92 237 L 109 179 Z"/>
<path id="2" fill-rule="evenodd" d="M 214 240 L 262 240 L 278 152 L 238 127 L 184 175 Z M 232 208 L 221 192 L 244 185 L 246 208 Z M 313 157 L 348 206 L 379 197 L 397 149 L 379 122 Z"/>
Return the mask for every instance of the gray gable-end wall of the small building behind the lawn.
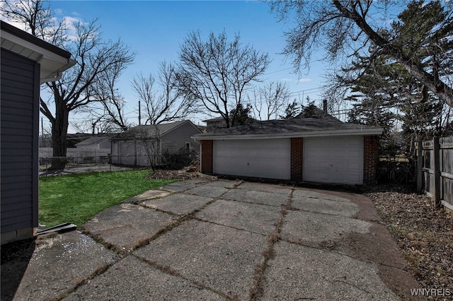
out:
<path id="1" fill-rule="evenodd" d="M 191 136 L 200 133 L 201 131 L 190 122 L 181 124 L 178 128 L 161 137 L 162 153 L 183 153 L 185 152 L 185 143 L 190 143 L 190 148 L 192 150 L 200 151 L 200 143 L 195 142 L 190 138 Z"/>

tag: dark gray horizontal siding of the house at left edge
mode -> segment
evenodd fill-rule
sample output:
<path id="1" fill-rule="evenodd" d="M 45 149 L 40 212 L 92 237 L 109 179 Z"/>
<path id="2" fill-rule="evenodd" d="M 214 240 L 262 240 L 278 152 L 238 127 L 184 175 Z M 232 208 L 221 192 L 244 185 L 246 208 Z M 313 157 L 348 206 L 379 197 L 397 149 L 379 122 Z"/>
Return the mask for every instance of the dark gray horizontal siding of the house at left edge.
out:
<path id="1" fill-rule="evenodd" d="M 39 64 L 1 49 L 2 244 L 38 226 L 39 90 Z"/>

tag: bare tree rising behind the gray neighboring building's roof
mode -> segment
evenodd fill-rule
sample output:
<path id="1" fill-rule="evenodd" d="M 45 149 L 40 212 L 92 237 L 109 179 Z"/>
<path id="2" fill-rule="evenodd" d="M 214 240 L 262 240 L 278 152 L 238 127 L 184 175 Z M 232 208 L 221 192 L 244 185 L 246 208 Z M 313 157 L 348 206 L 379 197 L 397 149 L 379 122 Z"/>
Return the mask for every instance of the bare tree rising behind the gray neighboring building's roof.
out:
<path id="1" fill-rule="evenodd" d="M 157 83 L 156 83 L 157 81 Z M 172 64 L 159 65 L 158 78 L 152 73 L 142 73 L 132 78 L 132 88 L 144 102 L 147 119 L 144 124 L 161 124 L 188 117 L 197 112 L 193 98 L 184 95 L 176 87 L 175 69 Z M 155 85 L 158 85 L 156 88 Z"/>

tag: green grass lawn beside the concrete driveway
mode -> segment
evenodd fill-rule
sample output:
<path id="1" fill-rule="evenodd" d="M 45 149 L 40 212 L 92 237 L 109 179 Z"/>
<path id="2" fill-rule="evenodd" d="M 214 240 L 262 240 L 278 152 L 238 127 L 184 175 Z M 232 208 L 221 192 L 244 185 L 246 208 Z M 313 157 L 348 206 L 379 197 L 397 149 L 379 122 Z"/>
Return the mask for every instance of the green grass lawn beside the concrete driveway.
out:
<path id="1" fill-rule="evenodd" d="M 83 225 L 97 213 L 149 189 L 175 182 L 145 179 L 150 170 L 96 172 L 40 178 L 41 225 Z"/>

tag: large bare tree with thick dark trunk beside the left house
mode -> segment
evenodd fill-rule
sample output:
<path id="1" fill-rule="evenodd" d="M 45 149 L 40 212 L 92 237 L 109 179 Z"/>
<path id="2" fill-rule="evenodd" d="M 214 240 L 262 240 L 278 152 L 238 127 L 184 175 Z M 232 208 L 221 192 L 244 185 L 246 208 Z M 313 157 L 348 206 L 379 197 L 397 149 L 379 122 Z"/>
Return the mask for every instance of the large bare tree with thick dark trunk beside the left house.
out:
<path id="1" fill-rule="evenodd" d="M 40 100 L 40 112 L 52 124 L 53 157 L 66 157 L 69 113 L 88 103 L 98 101 L 93 85 L 101 80 L 105 73 L 118 66 L 130 64 L 134 54 L 121 41 L 103 40 L 98 20 L 88 23 L 79 21 L 74 24 L 74 36 L 67 38 L 64 22 L 52 16 L 50 8 L 43 6 L 43 0 L 6 1 L 2 14 L 15 18 L 32 30 L 32 34 L 42 35 L 44 40 L 52 40 L 55 45 L 71 52 L 77 64 L 64 72 L 59 81 L 46 83 L 52 94 L 49 102 Z M 53 23 L 53 21 L 57 23 Z M 56 31 L 56 32 L 55 32 Z M 45 36 L 54 34 L 50 39 Z M 59 39 L 59 40 L 58 40 Z M 52 42 L 51 41 L 51 42 Z M 50 105 L 55 105 L 55 113 Z M 52 162 L 52 168 L 64 167 L 64 160 Z"/>

